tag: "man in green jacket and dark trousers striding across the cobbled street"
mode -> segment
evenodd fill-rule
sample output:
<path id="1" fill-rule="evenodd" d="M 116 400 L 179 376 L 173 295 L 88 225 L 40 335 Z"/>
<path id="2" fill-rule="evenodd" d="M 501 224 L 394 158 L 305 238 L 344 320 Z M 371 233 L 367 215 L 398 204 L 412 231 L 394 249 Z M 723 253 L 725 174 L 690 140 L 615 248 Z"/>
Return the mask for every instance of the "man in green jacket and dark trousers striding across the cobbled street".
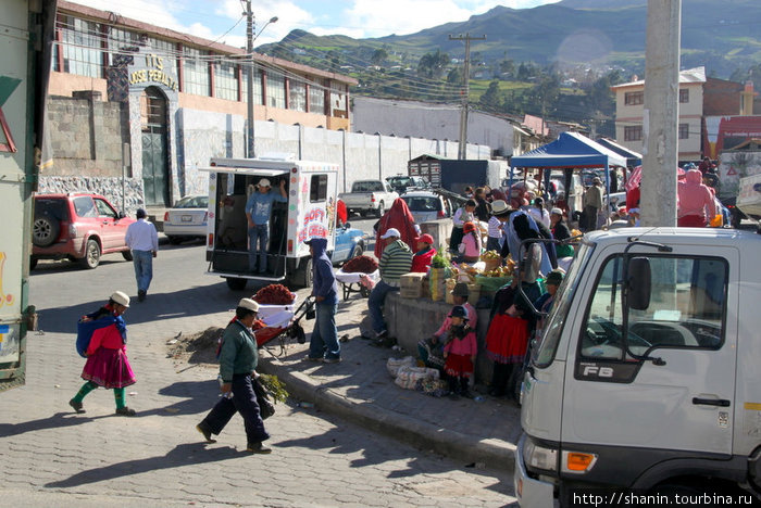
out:
<path id="1" fill-rule="evenodd" d="M 246 452 L 269 454 L 262 442 L 270 439 L 262 421 L 257 394 L 253 392 L 251 377 L 259 363 L 257 340 L 251 327 L 257 320 L 259 304 L 250 299 L 242 299 L 235 309 L 235 319 L 227 325 L 222 335 L 220 347 L 220 379 L 222 398 L 196 426 L 207 443 L 214 443 L 212 434 L 219 434 L 235 412 L 240 412 L 246 426 Z"/>

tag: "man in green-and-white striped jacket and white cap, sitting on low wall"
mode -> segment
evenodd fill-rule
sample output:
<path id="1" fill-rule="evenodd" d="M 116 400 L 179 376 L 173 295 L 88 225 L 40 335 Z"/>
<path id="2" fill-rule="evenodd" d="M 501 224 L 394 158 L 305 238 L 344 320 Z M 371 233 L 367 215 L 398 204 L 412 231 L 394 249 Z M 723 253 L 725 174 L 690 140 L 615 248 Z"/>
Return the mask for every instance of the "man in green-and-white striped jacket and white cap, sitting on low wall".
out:
<path id="1" fill-rule="evenodd" d="M 378 262 L 380 281 L 375 284 L 367 300 L 373 330 L 379 343 L 383 343 L 388 335 L 386 323 L 383 320 L 383 305 L 386 295 L 391 291 L 399 291 L 399 278 L 409 274 L 412 266 L 412 251 L 407 243 L 400 240 L 400 237 L 399 230 L 395 228 L 389 228 L 380 237 L 380 240 L 386 242 L 380 262 Z"/>

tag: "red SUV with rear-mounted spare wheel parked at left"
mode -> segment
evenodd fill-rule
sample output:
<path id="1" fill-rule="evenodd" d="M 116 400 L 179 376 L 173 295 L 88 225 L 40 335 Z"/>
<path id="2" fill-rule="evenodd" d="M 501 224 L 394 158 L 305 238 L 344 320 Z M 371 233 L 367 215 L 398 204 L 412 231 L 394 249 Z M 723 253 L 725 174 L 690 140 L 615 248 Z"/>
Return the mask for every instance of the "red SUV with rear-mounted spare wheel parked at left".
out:
<path id="1" fill-rule="evenodd" d="M 134 221 L 99 194 L 37 194 L 29 267 L 38 259 L 68 258 L 92 269 L 112 252 L 132 261 L 124 237 Z"/>

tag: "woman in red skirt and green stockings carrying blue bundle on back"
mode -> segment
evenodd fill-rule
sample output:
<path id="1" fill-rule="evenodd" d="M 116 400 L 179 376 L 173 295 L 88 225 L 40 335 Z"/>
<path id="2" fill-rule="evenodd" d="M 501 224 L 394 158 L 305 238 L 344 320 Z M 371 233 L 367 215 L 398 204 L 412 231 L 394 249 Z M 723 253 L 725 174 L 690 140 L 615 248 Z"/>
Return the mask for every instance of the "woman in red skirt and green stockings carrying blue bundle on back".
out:
<path id="1" fill-rule="evenodd" d="M 68 401 L 76 412 L 85 412 L 82 401 L 85 396 L 102 386 L 113 389 L 116 402 L 116 415 L 135 416 L 124 402 L 124 389 L 135 384 L 135 373 L 127 360 L 127 325 L 122 315 L 129 308 L 129 296 L 115 291 L 109 302 L 92 314 L 83 316 L 77 326 L 77 347 L 87 357 L 82 379 L 87 382 L 77 394 Z M 89 343 L 85 346 L 82 338 Z"/>

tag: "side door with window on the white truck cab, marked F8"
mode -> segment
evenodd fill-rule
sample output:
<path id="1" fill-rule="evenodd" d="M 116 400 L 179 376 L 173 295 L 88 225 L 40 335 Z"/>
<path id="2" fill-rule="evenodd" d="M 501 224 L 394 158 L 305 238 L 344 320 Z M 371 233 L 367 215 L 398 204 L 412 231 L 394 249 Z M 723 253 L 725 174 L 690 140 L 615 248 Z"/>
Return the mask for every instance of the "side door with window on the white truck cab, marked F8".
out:
<path id="1" fill-rule="evenodd" d="M 592 296 L 576 321 L 575 357 L 573 346 L 569 352 L 562 442 L 729 456 L 737 320 L 727 308 L 738 305 L 738 251 L 675 245 L 669 254 L 644 253 L 651 299 L 647 309 L 629 310 L 632 354 L 622 347 L 623 258 L 620 246 L 607 251 L 596 258 Z"/>

